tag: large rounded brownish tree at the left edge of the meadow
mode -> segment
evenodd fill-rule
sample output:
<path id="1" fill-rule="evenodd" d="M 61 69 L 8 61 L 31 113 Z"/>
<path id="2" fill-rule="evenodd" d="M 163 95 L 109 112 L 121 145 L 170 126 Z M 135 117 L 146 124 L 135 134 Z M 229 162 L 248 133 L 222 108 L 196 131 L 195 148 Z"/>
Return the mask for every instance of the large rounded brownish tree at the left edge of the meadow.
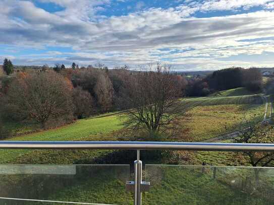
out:
<path id="1" fill-rule="evenodd" d="M 9 108 L 17 117 L 36 120 L 44 128 L 49 120 L 67 120 L 73 111 L 72 84 L 60 74 L 21 73 L 8 90 Z"/>

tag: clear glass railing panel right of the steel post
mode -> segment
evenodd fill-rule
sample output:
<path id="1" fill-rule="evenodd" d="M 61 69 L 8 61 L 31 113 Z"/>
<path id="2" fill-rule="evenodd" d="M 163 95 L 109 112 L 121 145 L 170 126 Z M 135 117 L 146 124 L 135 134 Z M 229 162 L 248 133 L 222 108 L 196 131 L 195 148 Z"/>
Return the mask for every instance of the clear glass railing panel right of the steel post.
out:
<path id="1" fill-rule="evenodd" d="M 146 165 L 144 204 L 274 204 L 274 169 Z"/>

